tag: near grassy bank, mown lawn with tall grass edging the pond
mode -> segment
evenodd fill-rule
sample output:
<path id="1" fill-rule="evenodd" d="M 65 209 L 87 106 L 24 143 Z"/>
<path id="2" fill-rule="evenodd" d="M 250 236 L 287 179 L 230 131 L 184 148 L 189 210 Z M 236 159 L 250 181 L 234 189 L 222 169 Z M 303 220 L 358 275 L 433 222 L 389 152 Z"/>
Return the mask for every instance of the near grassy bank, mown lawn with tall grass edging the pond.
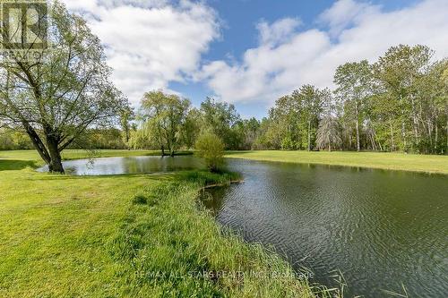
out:
<path id="1" fill-rule="evenodd" d="M 145 152 L 101 155 L 127 153 Z M 1 297 L 314 296 L 277 255 L 198 206 L 200 187 L 232 176 L 75 177 L 34 172 L 30 151 L 0 160 Z"/>

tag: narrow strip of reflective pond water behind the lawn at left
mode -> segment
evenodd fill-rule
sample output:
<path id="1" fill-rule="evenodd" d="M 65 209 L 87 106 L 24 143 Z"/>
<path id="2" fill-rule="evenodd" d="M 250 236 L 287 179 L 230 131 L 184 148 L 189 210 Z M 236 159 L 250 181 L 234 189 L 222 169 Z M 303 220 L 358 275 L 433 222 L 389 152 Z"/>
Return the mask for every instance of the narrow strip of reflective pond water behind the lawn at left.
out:
<path id="1" fill-rule="evenodd" d="M 120 175 L 142 173 L 166 173 L 179 170 L 202 168 L 199 158 L 186 157 L 129 157 L 129 158 L 92 158 L 69 160 L 64 163 L 65 172 L 71 175 Z M 47 172 L 48 166 L 39 168 Z"/>

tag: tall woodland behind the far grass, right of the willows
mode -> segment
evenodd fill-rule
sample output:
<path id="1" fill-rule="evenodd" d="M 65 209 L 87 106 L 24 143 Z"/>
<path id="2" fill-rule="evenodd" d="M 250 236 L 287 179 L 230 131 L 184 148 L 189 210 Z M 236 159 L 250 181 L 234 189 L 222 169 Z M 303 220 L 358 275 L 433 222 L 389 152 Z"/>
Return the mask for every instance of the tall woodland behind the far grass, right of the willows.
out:
<path id="1" fill-rule="evenodd" d="M 279 98 L 260 126 L 261 149 L 322 147 L 318 127 L 332 115 L 340 123 L 340 141 L 333 142 L 341 149 L 446 154 L 448 62 L 432 56 L 424 46 L 391 47 L 373 65 L 340 65 L 334 98 L 310 85 Z M 324 143 L 328 148 L 329 139 Z"/>

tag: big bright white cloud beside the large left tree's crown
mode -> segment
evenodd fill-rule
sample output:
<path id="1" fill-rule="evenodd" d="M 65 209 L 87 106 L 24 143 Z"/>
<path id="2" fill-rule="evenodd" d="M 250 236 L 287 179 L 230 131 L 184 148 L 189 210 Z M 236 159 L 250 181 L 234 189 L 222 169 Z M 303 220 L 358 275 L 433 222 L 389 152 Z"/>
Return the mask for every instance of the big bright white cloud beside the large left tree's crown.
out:
<path id="1" fill-rule="evenodd" d="M 143 92 L 185 81 L 219 37 L 216 13 L 181 0 L 64 0 L 81 13 L 106 47 L 113 81 L 137 103 Z"/>

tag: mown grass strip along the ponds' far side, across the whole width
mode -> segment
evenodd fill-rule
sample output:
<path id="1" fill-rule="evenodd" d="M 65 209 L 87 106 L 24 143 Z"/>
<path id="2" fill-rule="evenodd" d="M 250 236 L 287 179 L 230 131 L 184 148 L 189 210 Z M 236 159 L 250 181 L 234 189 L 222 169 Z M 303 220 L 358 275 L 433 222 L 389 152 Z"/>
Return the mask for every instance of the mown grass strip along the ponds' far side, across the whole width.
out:
<path id="1" fill-rule="evenodd" d="M 185 154 L 185 151 L 184 151 Z M 99 150 L 95 158 L 157 155 L 155 150 Z M 35 150 L 0 151 L 0 159 L 33 160 L 42 164 Z M 65 150 L 64 160 L 90 158 L 86 151 Z M 308 152 L 281 150 L 226 151 L 224 158 L 324 166 L 349 166 L 420 174 L 448 175 L 448 156 L 416 155 L 394 152 Z"/>

